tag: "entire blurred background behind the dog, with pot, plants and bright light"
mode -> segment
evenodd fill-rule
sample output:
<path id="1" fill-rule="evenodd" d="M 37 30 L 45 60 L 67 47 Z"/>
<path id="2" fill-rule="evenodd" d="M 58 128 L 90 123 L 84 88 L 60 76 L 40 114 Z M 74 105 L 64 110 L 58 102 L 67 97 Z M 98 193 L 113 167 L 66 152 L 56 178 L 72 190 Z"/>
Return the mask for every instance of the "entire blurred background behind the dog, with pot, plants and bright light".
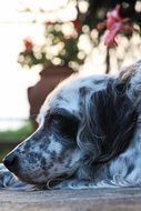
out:
<path id="1" fill-rule="evenodd" d="M 75 71 L 141 59 L 141 0 L 0 1 L 0 161 L 36 130 L 46 96 Z"/>

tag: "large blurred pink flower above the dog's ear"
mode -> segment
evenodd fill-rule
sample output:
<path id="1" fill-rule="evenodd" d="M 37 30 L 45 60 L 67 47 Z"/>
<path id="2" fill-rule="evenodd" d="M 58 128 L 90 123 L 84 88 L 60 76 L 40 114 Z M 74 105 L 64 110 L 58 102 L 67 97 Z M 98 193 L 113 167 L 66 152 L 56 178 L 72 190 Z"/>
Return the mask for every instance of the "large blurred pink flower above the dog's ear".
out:
<path id="1" fill-rule="evenodd" d="M 120 6 L 118 4 L 112 11 L 107 13 L 107 33 L 104 44 L 109 48 L 115 47 L 115 38 L 119 33 L 132 34 L 133 27 L 129 24 L 129 19 L 120 17 Z"/>

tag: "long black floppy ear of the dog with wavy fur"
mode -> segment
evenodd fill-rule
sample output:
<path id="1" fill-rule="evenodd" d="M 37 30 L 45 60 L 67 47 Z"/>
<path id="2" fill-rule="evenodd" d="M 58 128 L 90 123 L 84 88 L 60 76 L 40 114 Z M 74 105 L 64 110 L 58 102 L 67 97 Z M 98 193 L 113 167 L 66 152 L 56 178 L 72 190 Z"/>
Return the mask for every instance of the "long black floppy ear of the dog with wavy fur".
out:
<path id="1" fill-rule="evenodd" d="M 104 163 L 130 144 L 137 122 L 135 109 L 113 81 L 105 90 L 88 93 L 78 144 L 90 162 Z"/>

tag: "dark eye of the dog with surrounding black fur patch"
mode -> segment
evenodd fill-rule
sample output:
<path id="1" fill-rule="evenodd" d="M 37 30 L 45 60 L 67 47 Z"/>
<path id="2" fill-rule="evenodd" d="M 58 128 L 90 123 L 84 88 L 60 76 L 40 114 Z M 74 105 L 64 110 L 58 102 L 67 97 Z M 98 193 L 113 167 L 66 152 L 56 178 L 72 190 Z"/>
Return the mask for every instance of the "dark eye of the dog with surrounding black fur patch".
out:
<path id="1" fill-rule="evenodd" d="M 68 138 L 75 138 L 78 131 L 78 121 L 73 117 L 66 117 L 62 114 L 53 114 L 50 121 L 50 127 L 56 132 Z"/>

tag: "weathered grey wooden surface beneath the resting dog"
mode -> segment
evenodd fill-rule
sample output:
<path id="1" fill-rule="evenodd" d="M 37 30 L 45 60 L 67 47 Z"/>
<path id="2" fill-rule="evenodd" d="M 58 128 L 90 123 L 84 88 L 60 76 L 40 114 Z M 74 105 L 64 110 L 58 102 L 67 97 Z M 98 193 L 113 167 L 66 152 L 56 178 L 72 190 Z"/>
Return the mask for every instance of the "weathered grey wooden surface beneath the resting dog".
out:
<path id="1" fill-rule="evenodd" d="M 0 211 L 139 211 L 141 189 L 0 191 Z"/>

